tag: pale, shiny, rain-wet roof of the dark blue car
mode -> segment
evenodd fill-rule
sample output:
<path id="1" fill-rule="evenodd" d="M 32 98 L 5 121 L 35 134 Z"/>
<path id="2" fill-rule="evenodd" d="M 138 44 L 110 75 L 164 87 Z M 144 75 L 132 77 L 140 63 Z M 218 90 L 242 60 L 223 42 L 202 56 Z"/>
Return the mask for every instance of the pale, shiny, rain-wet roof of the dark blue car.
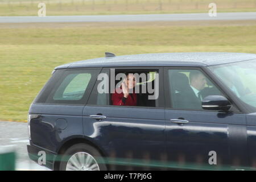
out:
<path id="1" fill-rule="evenodd" d="M 100 57 L 60 65 L 55 69 L 84 67 L 206 67 L 256 59 L 253 53 L 175 52 Z"/>

